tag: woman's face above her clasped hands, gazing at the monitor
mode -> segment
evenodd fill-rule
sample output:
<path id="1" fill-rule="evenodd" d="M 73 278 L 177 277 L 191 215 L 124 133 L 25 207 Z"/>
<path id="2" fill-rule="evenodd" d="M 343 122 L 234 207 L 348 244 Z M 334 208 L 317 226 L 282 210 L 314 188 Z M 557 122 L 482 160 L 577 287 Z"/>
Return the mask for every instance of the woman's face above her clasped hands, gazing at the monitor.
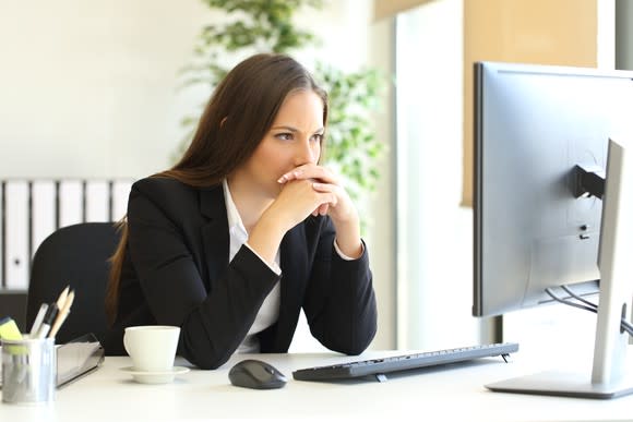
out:
<path id="1" fill-rule="evenodd" d="M 253 155 L 236 172 L 256 184 L 268 197 L 276 197 L 277 180 L 304 164 L 315 164 L 323 137 L 323 101 L 312 91 L 288 94 L 271 129 Z"/>

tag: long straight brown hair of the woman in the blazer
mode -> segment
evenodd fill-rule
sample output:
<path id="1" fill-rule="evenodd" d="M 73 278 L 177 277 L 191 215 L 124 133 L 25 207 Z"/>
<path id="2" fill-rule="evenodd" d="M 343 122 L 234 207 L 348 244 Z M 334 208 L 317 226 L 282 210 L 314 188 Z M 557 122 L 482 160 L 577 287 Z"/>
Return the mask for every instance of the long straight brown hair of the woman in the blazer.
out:
<path id="1" fill-rule="evenodd" d="M 296 91 L 312 91 L 323 100 L 327 122 L 327 95 L 310 73 L 288 56 L 255 55 L 235 67 L 214 91 L 191 144 L 169 170 L 154 177 L 174 178 L 192 186 L 212 186 L 240 167 L 268 132 L 284 99 Z M 128 244 L 128 225 L 118 222 L 121 240 L 110 257 L 106 314 L 114 323 L 119 284 Z"/>

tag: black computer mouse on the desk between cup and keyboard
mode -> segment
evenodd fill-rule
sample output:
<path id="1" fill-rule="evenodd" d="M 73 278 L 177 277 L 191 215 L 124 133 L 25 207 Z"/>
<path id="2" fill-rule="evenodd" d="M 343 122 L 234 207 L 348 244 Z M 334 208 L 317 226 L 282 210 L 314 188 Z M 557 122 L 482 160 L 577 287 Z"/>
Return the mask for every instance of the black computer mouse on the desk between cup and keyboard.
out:
<path id="1" fill-rule="evenodd" d="M 238 387 L 272 389 L 286 385 L 286 375 L 270 363 L 247 359 L 236 363 L 228 372 L 228 379 Z"/>

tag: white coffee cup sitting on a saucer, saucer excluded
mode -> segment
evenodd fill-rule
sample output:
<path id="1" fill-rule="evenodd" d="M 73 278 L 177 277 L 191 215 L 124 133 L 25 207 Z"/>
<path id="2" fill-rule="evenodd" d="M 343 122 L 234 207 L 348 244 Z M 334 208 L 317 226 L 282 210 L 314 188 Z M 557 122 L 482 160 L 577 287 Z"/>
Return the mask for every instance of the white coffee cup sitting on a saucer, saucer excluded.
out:
<path id="1" fill-rule="evenodd" d="M 174 367 L 180 327 L 141 325 L 127 327 L 123 346 L 135 371 L 166 372 Z"/>

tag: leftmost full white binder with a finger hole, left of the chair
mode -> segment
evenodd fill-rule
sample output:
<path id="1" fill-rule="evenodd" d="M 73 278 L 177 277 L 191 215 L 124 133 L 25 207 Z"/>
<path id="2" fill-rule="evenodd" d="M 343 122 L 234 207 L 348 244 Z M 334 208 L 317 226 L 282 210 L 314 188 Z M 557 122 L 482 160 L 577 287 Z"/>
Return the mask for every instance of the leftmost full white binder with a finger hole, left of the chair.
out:
<path id="1" fill-rule="evenodd" d="M 4 185 L 4 286 L 12 290 L 28 288 L 29 237 L 28 182 L 10 180 Z"/>

